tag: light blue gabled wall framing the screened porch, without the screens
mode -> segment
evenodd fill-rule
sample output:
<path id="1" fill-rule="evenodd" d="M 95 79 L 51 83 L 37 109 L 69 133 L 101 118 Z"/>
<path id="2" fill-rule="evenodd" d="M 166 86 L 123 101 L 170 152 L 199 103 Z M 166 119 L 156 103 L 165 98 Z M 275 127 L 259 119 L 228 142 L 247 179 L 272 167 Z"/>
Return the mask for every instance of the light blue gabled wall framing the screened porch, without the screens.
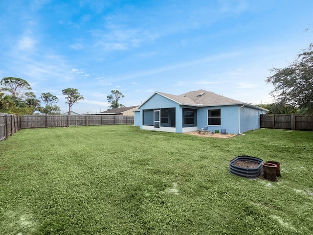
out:
<path id="1" fill-rule="evenodd" d="M 154 128 L 153 126 L 144 126 L 142 124 L 143 120 L 143 110 L 147 109 L 164 109 L 164 108 L 175 108 L 176 110 L 176 127 L 160 127 L 160 128 Z M 169 132 L 179 132 L 179 127 L 181 129 L 181 120 L 179 121 L 180 114 L 179 114 L 179 104 L 163 97 L 159 94 L 154 94 L 149 100 L 147 100 L 141 107 L 140 107 L 140 129 L 146 129 L 146 130 L 161 130 L 161 131 L 169 131 Z M 180 111 L 182 112 L 182 111 Z M 135 118 L 136 119 L 136 118 Z M 180 122 L 180 124 L 179 124 Z M 136 122 L 137 123 L 137 122 Z M 181 130 L 180 130 L 181 132 Z"/>

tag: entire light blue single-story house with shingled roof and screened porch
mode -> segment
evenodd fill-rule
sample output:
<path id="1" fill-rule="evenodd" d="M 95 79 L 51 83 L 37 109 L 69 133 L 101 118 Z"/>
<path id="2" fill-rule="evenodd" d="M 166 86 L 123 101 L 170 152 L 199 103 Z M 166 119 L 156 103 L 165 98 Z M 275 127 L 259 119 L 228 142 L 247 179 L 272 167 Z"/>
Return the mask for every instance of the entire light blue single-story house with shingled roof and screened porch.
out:
<path id="1" fill-rule="evenodd" d="M 260 115 L 268 110 L 204 90 L 181 95 L 153 93 L 134 111 L 140 129 L 166 132 L 225 129 L 242 134 L 260 128 Z"/>

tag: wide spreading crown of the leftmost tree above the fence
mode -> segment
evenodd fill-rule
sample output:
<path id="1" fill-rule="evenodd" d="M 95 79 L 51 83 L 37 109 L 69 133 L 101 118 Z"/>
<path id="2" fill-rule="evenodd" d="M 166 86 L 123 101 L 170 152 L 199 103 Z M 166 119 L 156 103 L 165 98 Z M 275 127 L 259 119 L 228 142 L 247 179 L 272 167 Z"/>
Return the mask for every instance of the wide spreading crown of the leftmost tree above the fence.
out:
<path id="1" fill-rule="evenodd" d="M 4 86 L 4 88 L 1 89 L 2 91 L 6 91 L 15 97 L 19 95 L 23 97 L 25 91 L 32 90 L 26 80 L 18 77 L 4 77 L 1 79 L 0 85 Z"/>

